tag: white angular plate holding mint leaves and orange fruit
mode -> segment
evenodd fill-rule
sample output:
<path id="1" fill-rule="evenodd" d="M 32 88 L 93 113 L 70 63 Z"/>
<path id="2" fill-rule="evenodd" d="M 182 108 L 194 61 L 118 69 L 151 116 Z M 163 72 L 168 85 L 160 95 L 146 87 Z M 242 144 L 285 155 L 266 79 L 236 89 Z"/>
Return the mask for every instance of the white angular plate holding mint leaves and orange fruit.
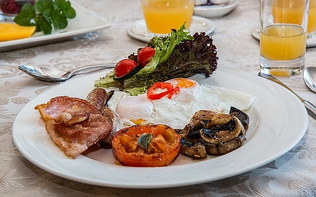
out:
<path id="1" fill-rule="evenodd" d="M 42 32 L 34 33 L 31 37 L 0 42 L 0 52 L 32 47 L 40 44 L 59 42 L 70 39 L 76 35 L 110 28 L 111 24 L 104 18 L 97 16 L 83 5 L 71 0 L 72 7 L 76 10 L 76 17 L 68 20 L 65 29 L 54 30 L 51 34 L 44 35 Z"/>

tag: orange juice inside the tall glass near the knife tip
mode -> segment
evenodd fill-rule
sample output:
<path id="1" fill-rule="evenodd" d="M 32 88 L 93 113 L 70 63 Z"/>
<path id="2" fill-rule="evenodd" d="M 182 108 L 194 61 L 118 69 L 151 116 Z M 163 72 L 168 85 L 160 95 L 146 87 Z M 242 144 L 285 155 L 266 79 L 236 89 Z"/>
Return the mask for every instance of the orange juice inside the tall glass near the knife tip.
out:
<path id="1" fill-rule="evenodd" d="M 305 51 L 306 32 L 297 25 L 272 25 L 260 33 L 260 53 L 266 59 L 293 60 Z"/>

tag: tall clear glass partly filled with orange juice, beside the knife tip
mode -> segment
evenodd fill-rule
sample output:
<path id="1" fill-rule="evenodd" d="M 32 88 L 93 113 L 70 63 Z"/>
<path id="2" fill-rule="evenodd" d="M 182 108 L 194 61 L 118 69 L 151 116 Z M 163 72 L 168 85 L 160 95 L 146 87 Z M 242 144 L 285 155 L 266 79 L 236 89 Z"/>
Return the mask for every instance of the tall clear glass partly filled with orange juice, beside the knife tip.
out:
<path id="1" fill-rule="evenodd" d="M 305 66 L 309 0 L 260 0 L 260 67 L 292 75 Z"/>

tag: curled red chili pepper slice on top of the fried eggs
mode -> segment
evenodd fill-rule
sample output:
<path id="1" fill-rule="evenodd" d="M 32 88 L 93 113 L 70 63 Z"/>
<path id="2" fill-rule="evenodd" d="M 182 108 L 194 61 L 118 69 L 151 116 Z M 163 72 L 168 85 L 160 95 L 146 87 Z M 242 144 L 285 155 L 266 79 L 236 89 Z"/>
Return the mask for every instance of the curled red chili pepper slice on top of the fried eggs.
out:
<path id="1" fill-rule="evenodd" d="M 157 89 L 167 89 L 164 92 L 156 94 Z M 147 91 L 148 99 L 157 100 L 161 99 L 162 97 L 168 95 L 168 99 L 171 99 L 173 93 L 178 93 L 180 91 L 179 87 L 173 88 L 171 83 L 165 82 L 156 82 L 152 87 L 150 87 Z"/>

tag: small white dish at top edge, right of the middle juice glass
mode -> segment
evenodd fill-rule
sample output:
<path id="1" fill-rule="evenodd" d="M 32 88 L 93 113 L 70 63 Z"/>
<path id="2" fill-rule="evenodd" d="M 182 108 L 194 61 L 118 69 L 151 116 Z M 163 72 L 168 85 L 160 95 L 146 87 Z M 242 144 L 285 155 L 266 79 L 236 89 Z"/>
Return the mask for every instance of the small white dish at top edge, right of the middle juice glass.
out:
<path id="1" fill-rule="evenodd" d="M 237 7 L 238 0 L 230 0 L 227 5 L 198 5 L 194 7 L 194 15 L 206 18 L 224 16 Z"/>

